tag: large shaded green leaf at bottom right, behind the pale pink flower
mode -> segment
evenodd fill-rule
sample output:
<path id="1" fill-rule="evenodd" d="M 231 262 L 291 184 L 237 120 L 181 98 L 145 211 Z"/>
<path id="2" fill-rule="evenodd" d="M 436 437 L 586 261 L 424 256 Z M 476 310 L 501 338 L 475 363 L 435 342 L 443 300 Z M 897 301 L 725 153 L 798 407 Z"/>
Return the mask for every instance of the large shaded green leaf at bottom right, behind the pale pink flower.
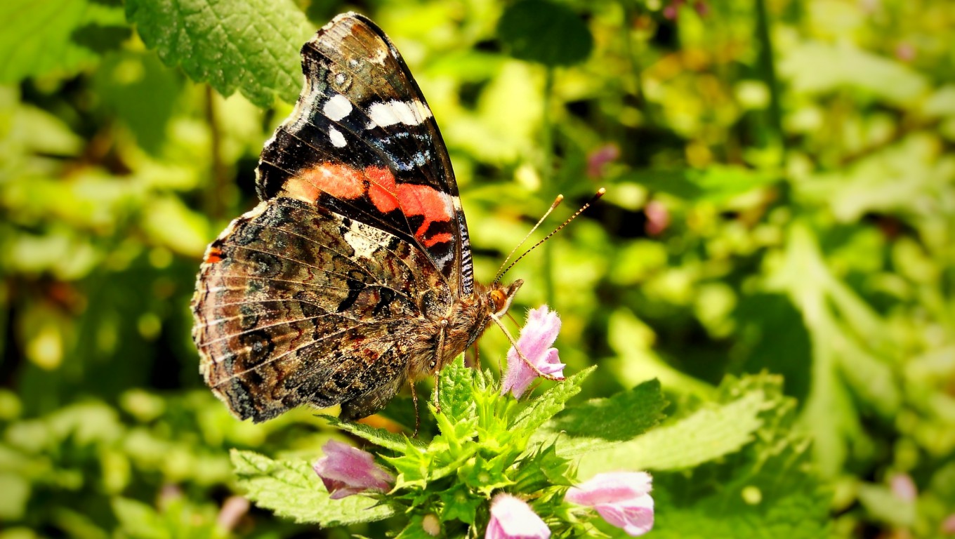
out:
<path id="1" fill-rule="evenodd" d="M 654 473 L 654 537 L 830 536 L 831 495 L 808 440 L 794 429 L 796 403 L 781 387 L 780 377 L 765 374 L 723 384 L 728 404 L 762 395 L 753 443 L 691 470 Z"/>

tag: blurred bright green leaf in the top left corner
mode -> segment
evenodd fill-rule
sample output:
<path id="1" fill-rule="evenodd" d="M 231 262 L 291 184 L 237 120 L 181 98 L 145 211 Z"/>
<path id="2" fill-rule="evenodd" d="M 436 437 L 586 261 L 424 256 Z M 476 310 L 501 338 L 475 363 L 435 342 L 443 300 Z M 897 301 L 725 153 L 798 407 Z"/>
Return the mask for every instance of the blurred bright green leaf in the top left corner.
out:
<path id="1" fill-rule="evenodd" d="M 116 49 L 130 31 L 122 10 L 88 0 L 0 2 L 0 83 L 69 76 Z"/>

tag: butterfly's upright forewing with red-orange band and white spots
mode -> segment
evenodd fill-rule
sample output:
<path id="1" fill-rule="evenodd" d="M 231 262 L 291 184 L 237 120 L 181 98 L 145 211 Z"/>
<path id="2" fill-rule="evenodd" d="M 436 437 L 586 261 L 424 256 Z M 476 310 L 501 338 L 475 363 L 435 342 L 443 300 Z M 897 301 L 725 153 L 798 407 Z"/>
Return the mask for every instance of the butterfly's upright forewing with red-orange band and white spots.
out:
<path id="1" fill-rule="evenodd" d="M 336 17 L 302 48 L 305 88 L 266 143 L 257 191 L 294 197 L 388 231 L 424 252 L 445 286 L 470 294 L 467 224 L 425 98 L 367 18 Z"/>

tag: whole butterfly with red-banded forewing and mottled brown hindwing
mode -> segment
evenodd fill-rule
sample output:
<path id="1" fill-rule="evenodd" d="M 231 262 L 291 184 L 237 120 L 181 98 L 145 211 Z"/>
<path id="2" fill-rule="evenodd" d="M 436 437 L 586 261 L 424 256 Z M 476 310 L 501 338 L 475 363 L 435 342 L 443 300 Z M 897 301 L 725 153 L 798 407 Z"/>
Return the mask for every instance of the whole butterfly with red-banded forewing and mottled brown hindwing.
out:
<path id="1" fill-rule="evenodd" d="M 208 246 L 192 300 L 205 383 L 256 423 L 301 404 L 377 412 L 476 342 L 522 283 L 474 279 L 447 148 L 381 29 L 338 15 L 302 71 L 256 170 L 261 201 Z"/>

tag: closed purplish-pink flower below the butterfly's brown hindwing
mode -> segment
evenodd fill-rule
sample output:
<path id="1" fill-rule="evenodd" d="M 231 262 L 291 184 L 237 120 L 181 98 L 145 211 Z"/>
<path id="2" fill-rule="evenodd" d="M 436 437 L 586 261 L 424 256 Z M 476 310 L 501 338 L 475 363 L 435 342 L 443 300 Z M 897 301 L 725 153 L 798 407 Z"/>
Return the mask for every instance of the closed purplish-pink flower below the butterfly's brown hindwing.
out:
<path id="1" fill-rule="evenodd" d="M 338 500 L 365 490 L 387 492 L 394 477 L 374 464 L 371 453 L 334 440 L 322 446 L 325 456 L 315 461 L 312 469 L 322 478 L 332 500 Z"/>

